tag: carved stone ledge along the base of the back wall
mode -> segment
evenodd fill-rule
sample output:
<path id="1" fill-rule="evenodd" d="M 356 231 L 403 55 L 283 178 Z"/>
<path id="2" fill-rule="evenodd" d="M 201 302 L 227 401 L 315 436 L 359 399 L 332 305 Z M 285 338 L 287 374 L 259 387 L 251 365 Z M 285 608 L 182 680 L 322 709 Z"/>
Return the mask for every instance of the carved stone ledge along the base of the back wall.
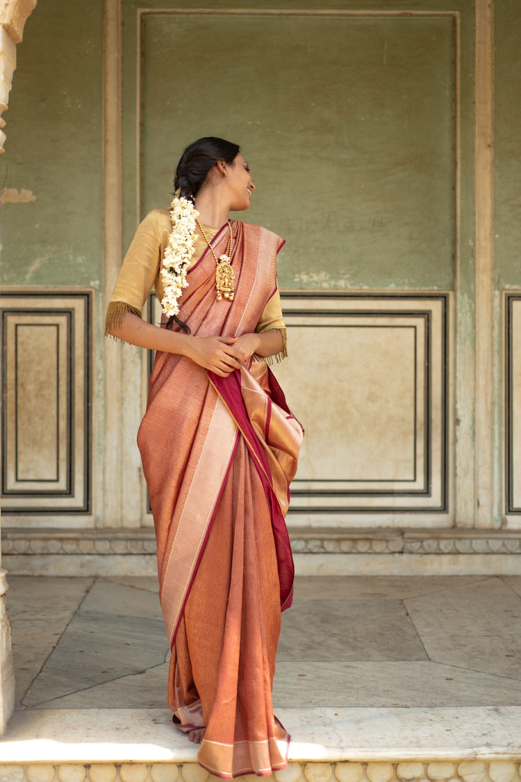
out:
<path id="1" fill-rule="evenodd" d="M 295 554 L 521 554 L 521 529 L 292 527 Z M 152 528 L 2 529 L 2 554 L 155 554 Z"/>

